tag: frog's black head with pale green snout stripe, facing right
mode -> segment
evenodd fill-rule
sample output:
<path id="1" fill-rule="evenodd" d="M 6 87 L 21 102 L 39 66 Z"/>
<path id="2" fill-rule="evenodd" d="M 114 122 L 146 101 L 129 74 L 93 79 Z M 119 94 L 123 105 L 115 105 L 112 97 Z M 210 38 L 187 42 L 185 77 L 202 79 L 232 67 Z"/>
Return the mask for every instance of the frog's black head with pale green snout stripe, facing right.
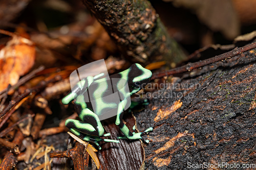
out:
<path id="1" fill-rule="evenodd" d="M 148 82 L 150 82 L 152 72 L 146 68 L 143 68 L 140 64 L 133 64 L 129 68 L 128 85 L 130 91 L 137 92 L 144 88 Z"/>

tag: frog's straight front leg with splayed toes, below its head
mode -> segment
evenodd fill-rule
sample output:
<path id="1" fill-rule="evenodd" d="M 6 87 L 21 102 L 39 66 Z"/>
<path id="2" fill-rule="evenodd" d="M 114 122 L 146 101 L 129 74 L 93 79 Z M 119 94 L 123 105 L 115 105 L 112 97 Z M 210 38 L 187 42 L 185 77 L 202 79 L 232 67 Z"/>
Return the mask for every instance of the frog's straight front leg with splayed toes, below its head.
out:
<path id="1" fill-rule="evenodd" d="M 141 137 L 142 134 L 152 131 L 153 128 L 150 127 L 147 130 L 145 130 L 144 132 L 139 132 L 139 133 L 132 133 L 127 126 L 123 123 L 122 119 L 123 119 L 123 111 L 125 108 L 125 105 L 127 103 L 127 99 L 124 99 L 122 102 L 119 103 L 118 105 L 118 112 L 117 112 L 117 117 L 116 117 L 116 125 L 120 128 L 120 130 L 123 132 L 123 134 L 125 135 L 125 137 L 118 137 L 118 139 L 142 139 L 145 142 L 149 142 L 148 140 L 144 139 Z"/>

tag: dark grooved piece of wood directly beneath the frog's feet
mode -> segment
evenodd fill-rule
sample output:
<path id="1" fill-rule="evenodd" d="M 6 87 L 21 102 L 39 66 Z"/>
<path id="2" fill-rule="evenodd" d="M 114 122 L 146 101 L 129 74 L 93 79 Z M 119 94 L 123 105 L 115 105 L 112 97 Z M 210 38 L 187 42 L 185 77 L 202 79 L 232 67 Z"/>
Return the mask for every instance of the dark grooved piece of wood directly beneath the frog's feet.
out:
<path id="1" fill-rule="evenodd" d="M 120 132 L 119 127 L 115 125 L 115 118 L 106 120 L 104 129 L 106 133 L 111 133 L 110 138 L 116 139 L 117 136 L 124 136 Z M 132 114 L 124 115 L 125 125 L 133 132 L 135 118 Z M 115 169 L 115 170 L 142 170 L 144 169 L 145 152 L 139 140 L 120 139 L 119 143 L 101 142 L 102 150 L 97 152 L 100 160 L 100 169 Z"/>

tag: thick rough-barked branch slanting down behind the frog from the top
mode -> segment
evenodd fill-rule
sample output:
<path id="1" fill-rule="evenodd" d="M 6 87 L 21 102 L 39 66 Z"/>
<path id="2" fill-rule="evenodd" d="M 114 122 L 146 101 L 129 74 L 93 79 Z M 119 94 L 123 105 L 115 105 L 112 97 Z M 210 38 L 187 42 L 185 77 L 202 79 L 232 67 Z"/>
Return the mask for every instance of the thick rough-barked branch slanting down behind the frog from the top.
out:
<path id="1" fill-rule="evenodd" d="M 133 62 L 179 62 L 185 58 L 175 40 L 168 37 L 158 14 L 145 0 L 82 0 Z"/>

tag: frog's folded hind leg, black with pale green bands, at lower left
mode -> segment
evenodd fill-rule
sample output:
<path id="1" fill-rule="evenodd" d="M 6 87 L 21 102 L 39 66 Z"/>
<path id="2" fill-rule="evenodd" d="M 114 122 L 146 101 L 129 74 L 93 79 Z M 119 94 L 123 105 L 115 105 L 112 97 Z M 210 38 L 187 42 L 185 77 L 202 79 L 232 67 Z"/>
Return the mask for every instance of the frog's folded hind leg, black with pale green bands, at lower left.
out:
<path id="1" fill-rule="evenodd" d="M 65 125 L 71 132 L 82 138 L 84 141 L 95 143 L 99 149 L 101 148 L 99 147 L 98 141 L 119 142 L 118 140 L 100 138 L 101 136 L 109 136 L 109 134 L 103 135 L 104 129 L 100 120 L 90 109 L 82 109 L 79 113 L 79 117 L 83 122 L 74 119 L 67 119 Z"/>

